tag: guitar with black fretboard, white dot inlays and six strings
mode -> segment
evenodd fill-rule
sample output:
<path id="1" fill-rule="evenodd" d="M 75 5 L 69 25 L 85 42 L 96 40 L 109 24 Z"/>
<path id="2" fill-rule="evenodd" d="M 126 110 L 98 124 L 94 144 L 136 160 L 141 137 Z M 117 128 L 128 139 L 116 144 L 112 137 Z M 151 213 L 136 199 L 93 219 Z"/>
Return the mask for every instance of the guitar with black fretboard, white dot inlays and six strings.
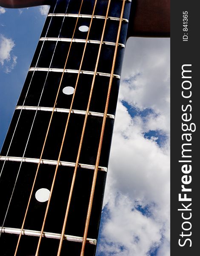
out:
<path id="1" fill-rule="evenodd" d="M 90 2 L 93 3 L 94 1 Z M 20 1 L 20 3 L 23 2 Z M 40 2 L 40 4 L 43 3 L 44 2 Z M 103 3 L 106 3 L 105 6 L 107 6 L 108 1 L 102 1 L 102 3 L 100 3 L 98 12 L 102 12 L 103 8 L 106 9 L 105 6 L 103 6 Z M 3 6 L 6 6 L 7 4 L 7 6 L 9 5 L 11 7 L 9 3 L 1 4 Z M 37 4 L 39 3 L 35 1 L 30 3 L 30 5 Z M 11 123 L 9 133 L 6 137 L 6 141 L 1 153 L 1 160 L 3 163 L 2 173 L 5 175 L 3 184 L 5 184 L 6 179 L 8 180 L 11 177 L 9 173 L 9 170 L 11 169 L 16 169 L 16 173 L 15 177 L 13 177 L 13 180 L 11 180 L 10 183 L 15 184 L 15 182 L 17 182 L 16 186 L 14 186 L 14 193 L 9 206 L 10 212 L 16 212 L 15 220 L 13 220 L 9 211 L 6 212 L 8 206 L 7 202 L 10 200 L 9 198 L 12 192 L 11 188 L 13 188 L 13 186 L 7 188 L 2 184 L 1 188 L 2 193 L 5 192 L 6 189 L 8 191 L 8 193 L 6 193 L 8 198 L 4 198 L 5 204 L 3 205 L 3 210 L 1 211 L 1 221 L 3 223 L 2 248 L 4 248 L 3 250 L 7 250 L 5 251 L 5 253 L 7 253 L 5 255 L 13 255 L 14 253 L 18 253 L 19 255 L 33 255 L 34 253 L 36 255 L 38 255 L 38 253 L 41 255 L 56 255 L 58 248 L 62 249 L 60 252 L 58 252 L 61 254 L 70 252 L 73 255 L 80 255 L 81 252 L 81 255 L 84 253 L 85 255 L 94 255 L 95 253 L 95 244 L 102 206 L 102 194 L 106 179 L 109 147 L 111 143 L 111 134 L 119 87 L 121 62 L 123 57 L 123 49 L 127 39 L 127 18 L 130 12 L 130 3 L 123 3 L 121 1 L 120 3 L 119 1 L 115 1 L 114 3 L 114 6 L 117 6 L 118 4 L 120 9 L 123 9 L 124 5 L 128 16 L 120 16 L 120 12 L 118 13 L 118 16 L 107 15 L 108 17 L 115 18 L 109 18 L 108 21 L 110 22 L 107 23 L 112 26 L 113 31 L 116 31 L 115 33 L 108 33 L 106 29 L 105 31 L 102 30 L 105 33 L 105 37 L 107 36 L 109 40 L 107 40 L 107 38 L 106 40 L 104 38 L 101 40 L 99 35 L 95 35 L 94 30 L 96 28 L 103 28 L 103 24 L 105 24 L 105 20 L 107 20 L 105 18 L 104 20 L 102 19 L 103 15 L 100 15 L 101 13 L 97 12 L 97 14 L 94 14 L 97 17 L 97 23 L 95 24 L 94 28 L 92 27 L 91 23 L 90 30 L 88 19 L 91 19 L 94 8 L 91 9 L 92 14 L 88 14 L 87 12 L 89 12 L 89 8 L 88 6 L 87 8 L 85 6 L 85 12 L 80 12 L 81 15 L 83 15 L 83 17 L 81 17 L 80 15 L 77 15 L 77 2 L 76 5 L 72 4 L 71 7 L 70 5 L 68 6 L 68 11 L 71 8 L 70 10 L 75 10 L 75 12 L 60 12 L 61 9 L 66 9 L 66 4 L 68 4 L 68 1 L 60 1 L 59 4 L 55 6 L 54 3 L 51 3 L 49 16 L 46 20 L 40 42 L 31 63 L 31 68 L 29 70 L 24 89 L 17 104 L 15 116 Z M 23 6 L 25 6 L 24 3 Z M 17 5 L 16 3 L 16 5 L 12 7 L 19 7 L 19 4 Z M 74 15 L 70 16 L 71 13 Z M 90 16 L 86 17 L 84 15 Z M 72 29 L 72 31 L 70 31 L 69 29 L 68 31 L 66 29 L 67 23 L 64 23 L 62 27 L 63 30 L 60 29 L 60 34 L 58 34 L 59 38 L 62 39 L 60 41 L 56 41 L 55 38 L 58 38 L 56 33 L 59 33 L 59 31 L 57 31 L 59 29 L 57 28 L 59 28 L 63 17 L 66 17 L 68 22 L 70 20 L 72 27 L 73 25 L 76 27 L 77 18 L 79 18 L 78 22 L 84 19 L 84 29 L 88 29 L 90 33 L 87 33 L 88 31 L 79 30 L 80 32 L 85 32 L 86 34 L 80 38 L 79 36 L 82 34 L 79 31 L 77 31 L 79 34 L 73 34 L 73 32 L 76 32 L 76 30 L 74 29 L 73 31 Z M 104 22 L 103 24 L 100 22 L 102 20 Z M 117 21 L 117 24 L 119 23 L 119 27 L 123 27 L 123 30 L 119 30 L 119 28 L 117 30 L 114 21 Z M 79 28 L 81 29 L 81 26 L 79 26 Z M 140 29 L 142 30 L 142 28 Z M 140 29 L 137 30 L 135 28 L 135 31 L 137 31 L 135 33 L 137 35 L 141 35 L 141 33 L 144 33 L 144 35 L 150 35 L 151 33 L 151 35 L 153 35 L 153 33 L 155 33 L 154 35 L 161 35 L 159 29 L 151 32 L 148 32 L 148 30 L 146 30 L 146 32 L 145 30 L 141 32 Z M 111 31 L 110 27 L 109 31 Z M 123 32 L 118 33 L 118 31 Z M 132 35 L 131 31 L 132 30 L 130 28 L 128 34 L 129 36 Z M 168 32 L 165 31 L 162 35 L 168 35 L 167 33 Z M 87 38 L 88 35 L 91 36 L 91 38 Z M 98 36 L 99 38 L 97 38 Z M 102 48 L 98 59 L 97 53 L 101 45 Z M 54 49 L 56 49 L 55 52 Z M 85 55 L 83 58 L 82 52 L 84 51 Z M 115 51 L 117 54 L 115 54 Z M 64 54 L 62 55 L 63 52 L 69 53 L 67 61 L 66 56 L 63 56 Z M 71 52 L 73 52 L 73 54 Z M 106 56 L 107 52 L 110 53 L 109 58 L 110 56 L 113 56 L 111 61 Z M 91 57 L 92 55 L 94 55 L 94 59 Z M 52 58 L 52 56 L 54 58 Z M 113 66 L 114 59 L 115 64 Z M 85 60 L 90 60 L 90 63 Z M 95 70 L 97 60 L 98 69 Z M 64 63 L 65 61 L 66 65 Z M 82 68 L 80 69 L 80 72 L 77 72 L 79 71 L 81 62 Z M 107 70 L 111 70 L 111 72 L 109 73 Z M 79 84 L 77 82 L 78 76 L 80 79 L 78 80 Z M 87 110 L 87 104 L 89 104 L 89 101 L 86 99 L 89 99 L 90 92 L 90 87 L 88 85 L 91 86 L 91 84 L 93 84 L 93 80 L 91 79 L 95 79 L 93 95 L 96 96 L 91 98 L 89 110 Z M 43 84 L 45 84 L 45 87 L 42 87 Z M 68 86 L 63 87 L 64 84 Z M 76 84 L 77 89 L 75 91 L 74 87 L 76 87 Z M 79 89 L 81 87 L 80 84 L 84 84 L 84 90 Z M 107 89 L 106 92 L 109 91 L 109 87 L 111 87 L 107 112 L 105 112 L 104 108 L 105 103 L 107 104 L 108 97 L 107 93 L 104 93 L 104 91 L 102 92 L 102 88 L 100 87 L 101 84 L 105 85 Z M 37 86 L 37 91 L 35 90 L 35 86 Z M 62 90 L 60 90 L 61 93 L 58 92 L 58 88 L 60 86 L 62 86 Z M 49 95 L 48 93 L 48 99 L 44 98 L 42 90 L 47 90 L 48 92 L 50 89 L 52 95 Z M 70 93 L 69 90 L 73 92 Z M 76 95 L 77 98 L 75 98 L 74 95 Z M 73 108 L 71 108 L 69 103 L 72 102 L 73 96 L 74 102 Z M 66 97 L 68 97 L 68 99 Z M 97 99 L 99 100 L 98 104 L 96 104 Z M 86 116 L 88 116 L 85 125 L 86 130 L 83 134 L 82 127 L 84 127 Z M 34 120 L 33 126 L 32 120 Z M 51 120 L 51 123 L 49 120 Z M 106 125 L 103 131 L 104 137 L 102 151 L 100 151 L 100 162 L 97 164 L 96 155 L 98 154 L 99 148 L 99 140 L 97 137 L 99 138 L 100 134 L 102 133 L 102 120 L 106 121 Z M 50 126 L 48 122 L 50 123 Z M 66 137 L 63 140 L 63 134 L 65 134 L 64 128 L 67 122 L 69 126 L 66 129 Z M 30 131 L 32 131 L 31 134 Z M 46 136 L 47 131 L 48 136 Z M 82 144 L 80 144 L 81 134 L 84 135 Z M 21 140 L 22 137 L 24 138 L 24 141 Z M 11 141 L 12 143 L 10 143 Z M 46 141 L 45 145 L 43 143 L 44 141 Z M 16 146 L 14 145 L 18 145 L 17 150 Z M 60 145 L 63 146 L 61 153 Z M 70 145 L 70 148 L 66 145 Z M 80 145 L 80 155 L 77 161 L 77 152 L 79 151 Z M 26 148 L 25 153 L 24 148 Z M 41 151 L 42 155 L 39 154 Z M 27 169 L 29 170 L 29 173 L 26 172 Z M 75 173 L 74 170 L 76 172 L 74 187 L 71 192 L 71 202 L 70 204 L 68 203 L 69 212 L 67 212 L 67 218 L 65 218 L 66 205 L 67 202 L 69 202 L 69 195 L 71 191 L 71 181 L 73 180 L 73 175 Z M 89 198 L 91 198 L 92 195 L 91 187 L 92 184 L 94 184 L 93 181 L 95 172 L 97 182 L 95 181 L 96 183 L 95 192 L 93 193 L 94 200 L 92 210 L 89 212 L 88 204 Z M 46 180 L 46 177 L 48 177 L 48 180 Z M 34 179 L 36 182 L 31 188 L 30 184 L 32 185 Z M 52 180 L 54 180 L 53 187 Z M 44 184 L 46 186 L 44 186 Z M 24 186 L 23 189 L 22 186 Z M 35 198 L 34 194 L 39 194 L 40 187 L 48 187 L 48 191 L 52 190 L 52 193 L 50 193 L 51 200 L 49 195 L 49 200 L 47 200 L 48 202 L 42 202 L 40 196 L 39 200 L 35 200 L 37 197 Z M 50 187 L 52 189 L 50 189 Z M 27 192 L 27 196 L 23 196 L 24 191 Z M 29 197 L 31 194 L 33 196 Z M 18 202 L 17 198 L 19 198 L 20 195 L 20 198 L 24 198 Z M 49 202 L 51 202 L 51 204 Z M 21 214 L 21 212 L 20 214 L 17 213 L 18 207 L 22 209 L 21 212 L 26 212 L 28 209 L 26 218 L 24 218 L 24 214 Z M 55 209 L 58 209 L 59 212 L 56 212 Z M 46 219 L 41 218 L 41 215 L 46 215 Z M 85 224 L 86 215 L 90 215 L 88 227 Z M 80 216 L 83 216 L 83 218 L 80 218 Z M 54 223 L 55 218 L 59 220 L 60 223 Z M 63 226 L 63 222 L 65 222 L 64 219 L 67 223 L 65 227 Z M 22 227 L 21 224 L 23 224 L 23 222 L 24 225 Z M 8 225 L 6 226 L 5 224 Z M 44 227 L 41 232 L 40 230 L 42 226 Z M 65 235 L 65 232 L 62 232 L 63 236 L 60 235 L 61 230 L 67 231 L 67 234 L 69 235 Z M 18 236 L 14 236 L 14 233 L 18 234 Z M 60 237 L 62 239 L 60 239 Z M 90 237 L 91 239 L 89 239 Z M 40 240 L 38 241 L 38 239 Z M 51 242 L 49 242 L 49 240 Z M 16 244 L 16 247 L 7 246 L 8 241 L 11 244 Z"/>

